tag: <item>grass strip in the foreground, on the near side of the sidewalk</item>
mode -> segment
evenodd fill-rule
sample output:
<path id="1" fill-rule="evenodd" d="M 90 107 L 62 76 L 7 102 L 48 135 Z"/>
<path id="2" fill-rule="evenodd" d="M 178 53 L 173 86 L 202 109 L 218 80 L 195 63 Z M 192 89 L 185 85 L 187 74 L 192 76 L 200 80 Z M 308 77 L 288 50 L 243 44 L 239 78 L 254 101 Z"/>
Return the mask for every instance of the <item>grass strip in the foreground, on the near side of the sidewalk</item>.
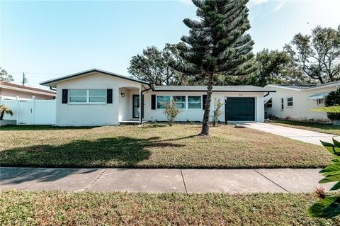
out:
<path id="1" fill-rule="evenodd" d="M 340 225 L 310 217 L 314 194 L 3 191 L 0 225 Z"/>

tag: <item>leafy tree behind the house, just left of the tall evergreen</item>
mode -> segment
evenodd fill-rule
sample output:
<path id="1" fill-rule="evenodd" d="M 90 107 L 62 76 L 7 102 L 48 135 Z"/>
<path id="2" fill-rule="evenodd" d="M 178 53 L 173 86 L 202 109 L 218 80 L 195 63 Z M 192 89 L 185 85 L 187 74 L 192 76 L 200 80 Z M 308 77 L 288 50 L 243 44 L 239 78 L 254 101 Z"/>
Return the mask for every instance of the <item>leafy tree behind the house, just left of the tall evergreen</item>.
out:
<path id="1" fill-rule="evenodd" d="M 149 81 L 154 85 L 182 85 L 184 75 L 177 70 L 182 64 L 179 56 L 179 44 L 166 44 L 163 50 L 157 47 L 147 47 L 142 55 L 137 54 L 130 60 L 128 72 L 136 79 Z"/>

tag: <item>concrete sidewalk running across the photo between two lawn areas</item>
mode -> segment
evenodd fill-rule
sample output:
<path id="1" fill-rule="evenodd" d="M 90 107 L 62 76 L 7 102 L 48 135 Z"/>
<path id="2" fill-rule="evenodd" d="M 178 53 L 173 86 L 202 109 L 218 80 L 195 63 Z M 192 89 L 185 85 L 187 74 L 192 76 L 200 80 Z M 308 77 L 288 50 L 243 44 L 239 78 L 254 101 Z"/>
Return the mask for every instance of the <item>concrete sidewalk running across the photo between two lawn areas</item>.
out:
<path id="1" fill-rule="evenodd" d="M 312 192 L 319 169 L 0 168 L 0 190 L 183 193 Z M 334 184 L 334 183 L 333 183 Z M 322 184 L 327 190 L 332 183 Z"/>

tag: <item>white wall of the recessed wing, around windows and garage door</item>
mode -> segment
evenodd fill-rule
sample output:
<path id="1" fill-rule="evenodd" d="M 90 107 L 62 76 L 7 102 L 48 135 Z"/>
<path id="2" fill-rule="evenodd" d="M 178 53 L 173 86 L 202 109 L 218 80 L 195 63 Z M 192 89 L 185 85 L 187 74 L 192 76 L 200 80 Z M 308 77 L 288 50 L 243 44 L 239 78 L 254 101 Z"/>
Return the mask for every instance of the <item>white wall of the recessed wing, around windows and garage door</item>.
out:
<path id="1" fill-rule="evenodd" d="M 166 116 L 163 113 L 162 109 L 151 109 L 151 95 L 172 95 L 172 96 L 202 96 L 205 95 L 206 92 L 183 92 L 183 91 L 176 91 L 176 92 L 165 92 L 165 91 L 147 91 L 144 93 L 145 95 L 145 104 L 144 104 L 144 118 L 145 120 L 158 120 L 158 121 L 166 121 Z M 255 118 L 258 122 L 264 121 L 264 106 L 263 106 L 263 94 L 261 93 L 251 93 L 251 92 L 213 92 L 212 93 L 212 101 L 210 105 L 210 118 L 212 117 L 213 113 L 212 110 L 214 109 L 214 99 L 218 98 L 222 103 L 225 103 L 225 97 L 254 97 L 255 98 Z M 177 121 L 202 121 L 203 120 L 203 109 L 183 109 L 182 112 L 179 113 L 176 120 Z M 220 121 L 225 122 L 225 106 L 222 107 L 222 115 L 220 116 Z"/>

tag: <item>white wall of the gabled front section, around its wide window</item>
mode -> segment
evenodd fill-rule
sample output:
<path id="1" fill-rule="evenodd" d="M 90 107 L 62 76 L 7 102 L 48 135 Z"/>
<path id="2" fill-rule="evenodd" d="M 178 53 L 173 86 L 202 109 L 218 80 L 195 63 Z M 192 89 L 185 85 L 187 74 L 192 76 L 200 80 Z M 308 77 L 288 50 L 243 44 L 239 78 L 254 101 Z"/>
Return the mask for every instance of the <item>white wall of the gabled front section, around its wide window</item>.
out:
<path id="1" fill-rule="evenodd" d="M 135 81 L 98 72 L 57 83 L 56 124 L 60 126 L 118 125 L 120 118 L 123 120 L 127 117 L 122 112 L 119 113 L 119 100 L 121 100 L 119 89 L 125 86 L 140 89 L 141 85 Z M 113 103 L 62 103 L 62 89 L 113 89 Z M 122 103 L 121 106 L 126 104 Z"/>

